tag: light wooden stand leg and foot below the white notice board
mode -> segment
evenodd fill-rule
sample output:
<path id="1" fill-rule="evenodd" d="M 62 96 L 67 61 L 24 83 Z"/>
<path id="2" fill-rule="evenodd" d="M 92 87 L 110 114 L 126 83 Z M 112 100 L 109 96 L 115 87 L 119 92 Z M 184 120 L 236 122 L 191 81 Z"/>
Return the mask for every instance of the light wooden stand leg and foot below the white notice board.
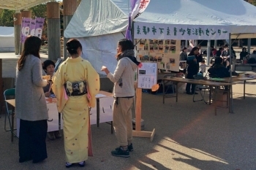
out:
<path id="1" fill-rule="evenodd" d="M 132 136 L 135 137 L 150 137 L 152 142 L 154 139 L 155 129 L 153 131 L 141 131 L 141 101 L 142 89 L 136 88 L 136 107 L 135 107 L 135 131 L 132 131 Z"/>

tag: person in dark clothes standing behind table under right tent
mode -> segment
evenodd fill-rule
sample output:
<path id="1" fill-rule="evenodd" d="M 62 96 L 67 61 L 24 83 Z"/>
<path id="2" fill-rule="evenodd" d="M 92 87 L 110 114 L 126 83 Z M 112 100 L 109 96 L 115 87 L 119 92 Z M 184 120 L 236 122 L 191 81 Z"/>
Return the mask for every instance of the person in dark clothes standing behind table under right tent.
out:
<path id="1" fill-rule="evenodd" d="M 191 52 L 189 53 L 188 56 L 192 56 L 194 55 L 195 58 L 193 60 L 189 60 L 189 58 L 187 59 L 187 64 L 189 65 L 187 67 L 187 79 L 194 79 L 194 75 L 197 74 L 199 72 L 199 62 L 203 61 L 203 57 L 202 55 L 199 54 L 199 48 L 198 47 L 193 47 Z M 191 90 L 190 90 L 191 88 Z M 190 84 L 187 83 L 186 86 L 186 91 L 187 94 L 194 94 L 195 93 L 195 84 Z M 195 93 L 197 94 L 197 93 Z"/>

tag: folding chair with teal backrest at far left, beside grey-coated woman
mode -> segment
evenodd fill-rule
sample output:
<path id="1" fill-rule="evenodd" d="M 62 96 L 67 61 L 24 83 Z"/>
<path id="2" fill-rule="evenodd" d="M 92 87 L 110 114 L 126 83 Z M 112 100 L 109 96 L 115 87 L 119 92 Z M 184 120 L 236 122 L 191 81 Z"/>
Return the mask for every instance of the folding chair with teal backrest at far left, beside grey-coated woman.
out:
<path id="1" fill-rule="evenodd" d="M 6 107 L 6 113 L 5 113 L 5 118 L 4 118 L 4 130 L 5 131 L 11 131 L 11 133 L 12 133 L 12 136 L 13 135 L 15 135 L 16 136 L 16 134 L 13 132 L 14 130 L 16 130 L 16 128 L 13 128 L 14 127 L 14 125 L 13 125 L 13 122 L 14 122 L 14 120 L 13 120 L 13 116 L 14 116 L 14 114 L 15 114 L 15 112 L 14 112 L 14 110 L 12 110 L 12 109 L 9 109 L 9 107 L 8 107 L 8 103 L 7 103 L 7 97 L 8 97 L 8 99 L 10 98 L 10 97 L 15 97 L 15 88 L 10 88 L 10 89 L 7 89 L 7 90 L 5 90 L 4 91 L 4 101 L 5 101 L 5 107 Z M 12 121 L 11 121 L 11 119 L 10 119 L 10 115 L 12 115 Z M 10 129 L 7 129 L 7 118 L 8 118 L 8 121 L 9 121 L 9 126 L 10 126 Z"/>

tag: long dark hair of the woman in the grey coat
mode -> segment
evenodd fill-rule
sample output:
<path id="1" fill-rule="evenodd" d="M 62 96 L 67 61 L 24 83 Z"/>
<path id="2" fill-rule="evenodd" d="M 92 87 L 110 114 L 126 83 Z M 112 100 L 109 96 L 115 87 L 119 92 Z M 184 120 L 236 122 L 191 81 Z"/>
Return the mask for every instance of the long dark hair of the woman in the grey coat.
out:
<path id="1" fill-rule="evenodd" d="M 28 36 L 24 42 L 24 48 L 18 60 L 18 70 L 23 69 L 24 63 L 26 61 L 27 55 L 34 55 L 40 58 L 39 50 L 41 47 L 41 39 L 37 36 Z"/>

